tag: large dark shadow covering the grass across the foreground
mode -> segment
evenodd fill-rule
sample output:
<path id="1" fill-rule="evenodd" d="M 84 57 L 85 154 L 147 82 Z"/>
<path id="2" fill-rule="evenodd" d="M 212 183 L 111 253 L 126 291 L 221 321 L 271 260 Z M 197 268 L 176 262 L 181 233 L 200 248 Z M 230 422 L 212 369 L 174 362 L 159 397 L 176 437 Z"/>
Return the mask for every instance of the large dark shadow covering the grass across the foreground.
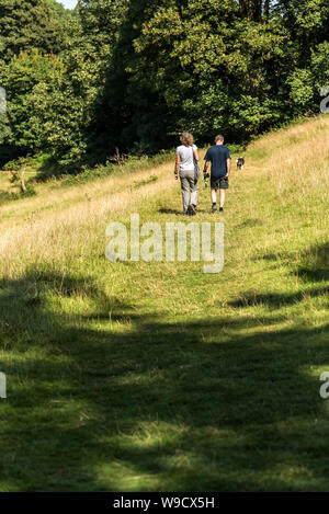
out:
<path id="1" fill-rule="evenodd" d="M 68 307 L 81 295 L 83 316 Z M 166 322 L 43 272 L 0 283 L 0 319 L 2 488 L 329 490 L 328 416 L 305 372 L 329 366 L 329 324 Z"/>

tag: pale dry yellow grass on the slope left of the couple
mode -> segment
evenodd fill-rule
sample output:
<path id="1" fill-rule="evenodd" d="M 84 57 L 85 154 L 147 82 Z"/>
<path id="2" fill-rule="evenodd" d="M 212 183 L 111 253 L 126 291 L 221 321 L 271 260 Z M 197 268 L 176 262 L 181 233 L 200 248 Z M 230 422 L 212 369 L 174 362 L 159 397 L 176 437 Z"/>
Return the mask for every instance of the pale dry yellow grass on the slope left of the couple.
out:
<path id="1" fill-rule="evenodd" d="M 147 179 L 157 181 L 147 183 Z M 145 185 L 135 187 L 145 181 Z M 0 264 L 12 276 L 21 263 L 53 262 L 75 252 L 90 239 L 95 226 L 111 221 L 114 214 L 132 209 L 173 183 L 172 164 L 129 176 L 102 179 L 68 190 L 41 192 L 1 208 Z"/>

